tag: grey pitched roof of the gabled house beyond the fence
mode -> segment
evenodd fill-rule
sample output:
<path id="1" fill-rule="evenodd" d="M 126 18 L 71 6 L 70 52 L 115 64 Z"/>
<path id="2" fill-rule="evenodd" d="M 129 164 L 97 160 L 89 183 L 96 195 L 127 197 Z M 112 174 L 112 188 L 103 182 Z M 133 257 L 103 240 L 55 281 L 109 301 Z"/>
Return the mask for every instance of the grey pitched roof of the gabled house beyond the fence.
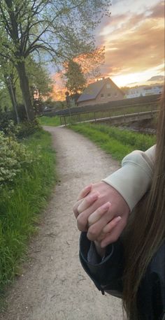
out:
<path id="1" fill-rule="evenodd" d="M 82 94 L 78 98 L 77 102 L 96 99 L 96 96 L 98 96 L 99 92 L 101 92 L 101 89 L 106 84 L 106 82 L 113 82 L 113 81 L 110 78 L 106 78 L 106 79 L 99 80 L 99 81 L 96 81 L 96 82 L 88 85 L 88 87 L 84 90 L 84 92 L 82 92 Z M 113 85 L 115 85 L 114 82 L 113 82 Z M 117 87 L 117 85 L 115 85 L 115 87 Z M 119 87 L 117 87 L 117 89 L 120 90 Z M 122 94 L 123 94 L 123 92 L 122 92 Z"/>

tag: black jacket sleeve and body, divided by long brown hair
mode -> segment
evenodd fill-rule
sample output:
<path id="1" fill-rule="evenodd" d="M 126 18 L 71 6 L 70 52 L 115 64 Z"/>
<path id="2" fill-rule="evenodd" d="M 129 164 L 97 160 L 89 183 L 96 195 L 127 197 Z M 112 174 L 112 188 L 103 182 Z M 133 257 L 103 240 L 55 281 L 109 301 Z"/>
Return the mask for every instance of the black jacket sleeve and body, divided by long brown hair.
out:
<path id="1" fill-rule="evenodd" d="M 80 262 L 97 289 L 122 298 L 122 272 L 124 270 L 121 240 L 106 248 L 106 256 L 97 263 L 89 263 L 87 255 L 91 242 L 87 233 L 80 236 Z M 100 260 L 100 261 L 99 261 Z M 165 320 L 165 243 L 152 259 L 138 290 L 138 312 L 141 320 Z M 134 319 L 132 319 L 134 320 Z"/>

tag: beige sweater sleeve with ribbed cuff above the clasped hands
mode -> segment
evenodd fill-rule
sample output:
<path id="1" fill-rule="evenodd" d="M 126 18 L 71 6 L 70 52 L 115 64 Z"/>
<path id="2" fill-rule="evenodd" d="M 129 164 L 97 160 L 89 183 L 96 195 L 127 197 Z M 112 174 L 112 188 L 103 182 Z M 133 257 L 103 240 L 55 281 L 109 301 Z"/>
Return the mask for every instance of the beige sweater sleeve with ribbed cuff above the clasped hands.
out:
<path id="1" fill-rule="evenodd" d="M 132 210 L 150 187 L 154 163 L 155 145 L 145 152 L 136 150 L 124 157 L 122 168 L 102 181 L 115 188 Z"/>

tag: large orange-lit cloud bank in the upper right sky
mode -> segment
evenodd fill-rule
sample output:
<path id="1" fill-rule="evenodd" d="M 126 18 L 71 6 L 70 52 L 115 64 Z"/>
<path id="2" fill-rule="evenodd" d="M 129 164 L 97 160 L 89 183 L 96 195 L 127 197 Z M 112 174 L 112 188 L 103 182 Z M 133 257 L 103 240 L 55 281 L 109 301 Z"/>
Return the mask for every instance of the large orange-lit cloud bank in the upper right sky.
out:
<path id="1" fill-rule="evenodd" d="M 157 6 L 150 7 L 148 15 L 127 13 L 110 18 L 100 36 L 100 42 L 106 45 L 105 75 L 136 73 L 164 63 L 161 8 L 159 1 Z"/>

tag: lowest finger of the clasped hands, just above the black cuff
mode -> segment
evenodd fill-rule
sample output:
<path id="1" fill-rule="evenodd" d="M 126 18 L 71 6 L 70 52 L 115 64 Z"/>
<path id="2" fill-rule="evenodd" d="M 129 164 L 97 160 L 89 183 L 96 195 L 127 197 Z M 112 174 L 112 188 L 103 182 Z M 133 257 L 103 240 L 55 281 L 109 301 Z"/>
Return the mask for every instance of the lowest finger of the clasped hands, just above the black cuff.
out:
<path id="1" fill-rule="evenodd" d="M 122 221 L 122 219 L 118 222 L 117 226 L 113 228 L 113 230 L 106 235 L 106 238 L 104 238 L 101 241 L 101 248 L 106 247 L 107 245 L 110 245 L 110 243 L 116 242 L 117 239 L 120 237 L 122 231 L 124 230 L 124 227 L 126 226 L 126 222 Z"/>

